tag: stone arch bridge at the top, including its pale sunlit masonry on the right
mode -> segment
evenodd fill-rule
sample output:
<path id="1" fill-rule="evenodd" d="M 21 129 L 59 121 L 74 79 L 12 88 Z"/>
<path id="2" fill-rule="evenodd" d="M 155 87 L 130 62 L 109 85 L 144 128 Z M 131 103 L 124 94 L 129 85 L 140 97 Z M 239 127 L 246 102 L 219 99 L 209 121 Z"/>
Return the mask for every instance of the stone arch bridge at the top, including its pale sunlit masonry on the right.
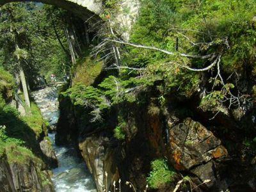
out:
<path id="1" fill-rule="evenodd" d="M 90 24 L 93 24 L 101 20 L 100 13 L 102 13 L 104 8 L 105 0 L 0 0 L 0 6 L 6 3 L 26 1 L 58 6 L 74 13 L 82 20 L 88 20 Z M 118 3 L 118 7 L 119 11 L 114 15 L 114 17 L 112 17 L 114 19 L 111 20 L 110 24 L 113 26 L 120 26 L 120 29 L 116 29 L 116 31 L 122 35 L 124 40 L 129 40 L 132 24 L 138 16 L 140 4 L 138 3 L 138 0 L 122 0 Z M 129 13 L 124 10 L 129 10 Z"/>

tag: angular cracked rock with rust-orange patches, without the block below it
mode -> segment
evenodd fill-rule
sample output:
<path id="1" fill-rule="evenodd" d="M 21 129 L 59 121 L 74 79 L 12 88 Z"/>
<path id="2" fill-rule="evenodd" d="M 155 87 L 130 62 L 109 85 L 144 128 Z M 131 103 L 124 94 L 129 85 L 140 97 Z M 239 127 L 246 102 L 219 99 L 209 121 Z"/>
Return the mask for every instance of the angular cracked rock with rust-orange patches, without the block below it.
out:
<path id="1" fill-rule="evenodd" d="M 182 170 L 227 156 L 227 150 L 211 131 L 187 118 L 170 129 L 171 159 Z"/>

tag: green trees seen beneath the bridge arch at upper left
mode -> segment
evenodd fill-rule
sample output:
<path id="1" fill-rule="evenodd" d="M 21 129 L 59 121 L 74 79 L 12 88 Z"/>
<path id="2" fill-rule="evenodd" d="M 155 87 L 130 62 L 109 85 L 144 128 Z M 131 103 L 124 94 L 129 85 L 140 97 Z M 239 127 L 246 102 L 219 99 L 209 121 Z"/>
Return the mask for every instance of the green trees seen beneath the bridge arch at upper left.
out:
<path id="1" fill-rule="evenodd" d="M 50 81 L 50 74 L 56 74 L 62 81 L 63 75 L 70 70 L 70 57 L 58 42 L 52 23 L 68 49 L 64 15 L 67 17 L 67 12 L 52 6 L 4 4 L 0 18 L 0 65 L 12 73 L 17 73 L 19 67 L 24 68 L 31 87 L 38 76 L 45 76 Z"/>

